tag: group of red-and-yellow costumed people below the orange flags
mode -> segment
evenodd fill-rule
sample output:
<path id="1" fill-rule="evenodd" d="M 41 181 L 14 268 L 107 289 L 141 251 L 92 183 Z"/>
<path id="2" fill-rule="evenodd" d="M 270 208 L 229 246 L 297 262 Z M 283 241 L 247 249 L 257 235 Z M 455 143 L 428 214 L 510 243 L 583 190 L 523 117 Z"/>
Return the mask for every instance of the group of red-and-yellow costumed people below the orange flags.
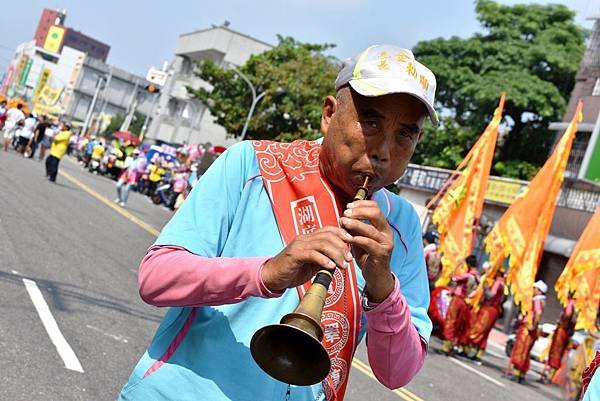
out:
<path id="1" fill-rule="evenodd" d="M 434 324 L 434 334 L 442 340 L 440 352 L 470 358 L 481 364 L 488 337 L 504 312 L 505 269 L 502 266 L 491 269 L 486 261 L 482 263 L 480 273 L 477 258 L 470 255 L 452 276 L 449 286 L 439 285 L 442 257 L 435 233 L 423 235 L 423 246 L 431 290 L 429 316 Z M 533 287 L 531 313 L 519 314 L 512 325 L 515 340 L 506 375 L 518 383 L 524 383 L 530 368 L 530 352 L 542 335 L 541 319 L 548 285 L 538 280 Z M 600 350 L 600 335 L 595 330 L 573 337 L 575 322 L 574 302 L 570 298 L 543 352 L 545 365 L 539 378 L 542 383 L 564 385 L 573 400 L 578 399 L 581 390 L 583 369 L 590 363 L 594 351 Z"/>

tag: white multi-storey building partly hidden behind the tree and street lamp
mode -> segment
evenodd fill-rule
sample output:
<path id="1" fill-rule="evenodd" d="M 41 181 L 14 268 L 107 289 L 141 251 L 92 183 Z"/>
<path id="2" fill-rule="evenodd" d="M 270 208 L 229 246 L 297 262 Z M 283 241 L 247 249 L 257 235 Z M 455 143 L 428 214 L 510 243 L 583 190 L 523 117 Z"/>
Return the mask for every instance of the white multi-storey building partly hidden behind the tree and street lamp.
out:
<path id="1" fill-rule="evenodd" d="M 194 62 L 210 59 L 221 67 L 241 66 L 251 55 L 271 48 L 271 45 L 227 26 L 213 26 L 179 36 L 175 59 L 169 65 L 167 82 L 146 137 L 173 144 L 210 142 L 229 146 L 235 143 L 235 139 L 227 137 L 222 126 L 213 122 L 214 117 L 207 112 L 206 106 L 187 94 L 185 87 L 188 85 L 208 87 L 194 75 Z"/>

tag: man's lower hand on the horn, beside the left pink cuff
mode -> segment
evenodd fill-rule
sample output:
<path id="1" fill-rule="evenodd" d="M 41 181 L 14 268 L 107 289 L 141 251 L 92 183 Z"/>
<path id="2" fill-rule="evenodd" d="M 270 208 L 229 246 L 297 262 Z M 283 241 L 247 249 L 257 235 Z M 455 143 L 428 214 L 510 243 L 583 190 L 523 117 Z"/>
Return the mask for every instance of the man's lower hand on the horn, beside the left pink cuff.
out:
<path id="1" fill-rule="evenodd" d="M 270 291 L 281 291 L 306 283 L 319 270 L 346 268 L 352 260 L 351 239 L 346 230 L 332 226 L 299 235 L 264 264 L 263 283 Z"/>

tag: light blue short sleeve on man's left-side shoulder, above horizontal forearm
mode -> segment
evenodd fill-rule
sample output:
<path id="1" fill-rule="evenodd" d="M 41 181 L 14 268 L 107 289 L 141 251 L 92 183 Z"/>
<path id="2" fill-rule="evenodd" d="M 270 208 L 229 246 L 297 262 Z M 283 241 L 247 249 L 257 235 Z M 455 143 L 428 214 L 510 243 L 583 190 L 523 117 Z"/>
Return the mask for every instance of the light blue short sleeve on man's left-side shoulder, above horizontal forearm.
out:
<path id="1" fill-rule="evenodd" d="M 155 245 L 176 245 L 197 255 L 220 256 L 255 158 L 249 141 L 227 149 L 202 175 Z"/>

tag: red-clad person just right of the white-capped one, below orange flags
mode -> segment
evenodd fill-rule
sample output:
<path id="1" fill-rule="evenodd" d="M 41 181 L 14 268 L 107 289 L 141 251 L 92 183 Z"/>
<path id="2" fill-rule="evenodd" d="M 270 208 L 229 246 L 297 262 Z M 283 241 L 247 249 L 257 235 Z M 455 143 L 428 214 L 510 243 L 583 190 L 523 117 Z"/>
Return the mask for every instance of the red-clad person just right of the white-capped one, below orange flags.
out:
<path id="1" fill-rule="evenodd" d="M 552 341 L 550 342 L 550 352 L 548 353 L 547 369 L 544 378 L 547 382 L 551 382 L 556 371 L 560 368 L 563 355 L 569 345 L 569 339 L 575 330 L 576 314 L 575 300 L 569 297 L 567 306 L 562 310 L 556 329 L 552 333 Z"/>

